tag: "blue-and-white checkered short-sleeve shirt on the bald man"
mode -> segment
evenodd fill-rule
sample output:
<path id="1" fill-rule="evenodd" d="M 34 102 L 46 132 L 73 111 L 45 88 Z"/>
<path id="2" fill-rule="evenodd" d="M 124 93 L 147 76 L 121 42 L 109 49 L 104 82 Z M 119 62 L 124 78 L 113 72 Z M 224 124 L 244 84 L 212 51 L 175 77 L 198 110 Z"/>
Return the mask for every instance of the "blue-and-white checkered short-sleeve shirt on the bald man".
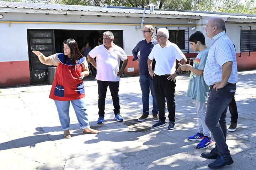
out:
<path id="1" fill-rule="evenodd" d="M 233 42 L 223 31 L 212 38 L 212 45 L 204 67 L 204 81 L 206 84 L 213 85 L 215 82 L 222 81 L 222 65 L 232 61 L 232 72 L 228 79 L 228 83 L 236 83 L 238 81 L 238 71 L 236 65 L 236 51 Z"/>

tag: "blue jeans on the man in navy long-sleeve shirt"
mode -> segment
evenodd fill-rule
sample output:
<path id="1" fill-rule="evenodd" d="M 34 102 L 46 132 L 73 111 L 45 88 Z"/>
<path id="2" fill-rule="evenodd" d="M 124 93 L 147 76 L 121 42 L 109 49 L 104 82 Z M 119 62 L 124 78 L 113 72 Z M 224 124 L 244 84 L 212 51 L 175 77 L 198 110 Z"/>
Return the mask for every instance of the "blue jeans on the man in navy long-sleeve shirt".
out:
<path id="1" fill-rule="evenodd" d="M 140 74 L 140 88 L 142 90 L 142 111 L 144 114 L 149 115 L 149 90 L 153 98 L 153 110 L 152 113 L 158 114 L 158 106 L 156 103 L 155 92 L 153 88 L 153 80 L 149 74 Z"/>

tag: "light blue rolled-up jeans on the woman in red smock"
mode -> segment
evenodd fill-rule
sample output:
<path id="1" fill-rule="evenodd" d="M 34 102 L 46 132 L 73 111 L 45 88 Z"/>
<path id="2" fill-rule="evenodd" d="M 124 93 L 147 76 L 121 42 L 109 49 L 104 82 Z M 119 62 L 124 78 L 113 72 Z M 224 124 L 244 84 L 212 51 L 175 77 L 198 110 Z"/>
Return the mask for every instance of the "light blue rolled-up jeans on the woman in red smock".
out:
<path id="1" fill-rule="evenodd" d="M 80 125 L 80 129 L 90 128 L 88 114 L 86 112 L 85 98 L 71 101 L 58 101 L 54 100 L 59 113 L 60 124 L 63 130 L 69 130 L 70 118 L 69 118 L 69 103 L 71 102 L 76 118 Z"/>

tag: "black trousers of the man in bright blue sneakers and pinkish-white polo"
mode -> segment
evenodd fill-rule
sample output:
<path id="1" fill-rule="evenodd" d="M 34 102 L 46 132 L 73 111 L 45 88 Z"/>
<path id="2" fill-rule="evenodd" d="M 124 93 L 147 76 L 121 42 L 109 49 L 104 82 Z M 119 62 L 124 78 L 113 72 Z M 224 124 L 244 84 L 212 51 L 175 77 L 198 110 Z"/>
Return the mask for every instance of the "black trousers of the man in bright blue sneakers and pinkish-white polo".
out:
<path id="1" fill-rule="evenodd" d="M 110 93 L 112 96 L 113 106 L 114 106 L 114 114 L 117 115 L 120 113 L 120 105 L 119 105 L 119 81 L 100 81 L 97 80 L 98 83 L 98 108 L 99 108 L 99 116 L 104 117 L 105 114 L 105 101 L 107 94 L 107 87 L 110 88 Z"/>

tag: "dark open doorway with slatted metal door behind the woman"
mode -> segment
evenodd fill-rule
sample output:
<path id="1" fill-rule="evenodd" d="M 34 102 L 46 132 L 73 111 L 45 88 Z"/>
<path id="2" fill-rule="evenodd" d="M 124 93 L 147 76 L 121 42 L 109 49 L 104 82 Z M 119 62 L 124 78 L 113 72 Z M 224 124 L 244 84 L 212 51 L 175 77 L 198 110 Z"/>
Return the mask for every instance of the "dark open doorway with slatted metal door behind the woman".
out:
<path id="1" fill-rule="evenodd" d="M 114 34 L 114 44 L 123 48 L 123 30 L 110 30 Z M 42 64 L 33 50 L 41 51 L 45 56 L 63 52 L 63 41 L 68 38 L 76 40 L 79 50 L 88 41 L 92 49 L 103 44 L 105 30 L 39 30 L 28 29 L 28 56 L 30 61 L 31 84 L 46 83 L 48 80 L 48 67 Z M 120 64 L 122 65 L 122 63 Z M 96 69 L 90 67 L 92 74 L 85 79 L 94 79 Z"/>

